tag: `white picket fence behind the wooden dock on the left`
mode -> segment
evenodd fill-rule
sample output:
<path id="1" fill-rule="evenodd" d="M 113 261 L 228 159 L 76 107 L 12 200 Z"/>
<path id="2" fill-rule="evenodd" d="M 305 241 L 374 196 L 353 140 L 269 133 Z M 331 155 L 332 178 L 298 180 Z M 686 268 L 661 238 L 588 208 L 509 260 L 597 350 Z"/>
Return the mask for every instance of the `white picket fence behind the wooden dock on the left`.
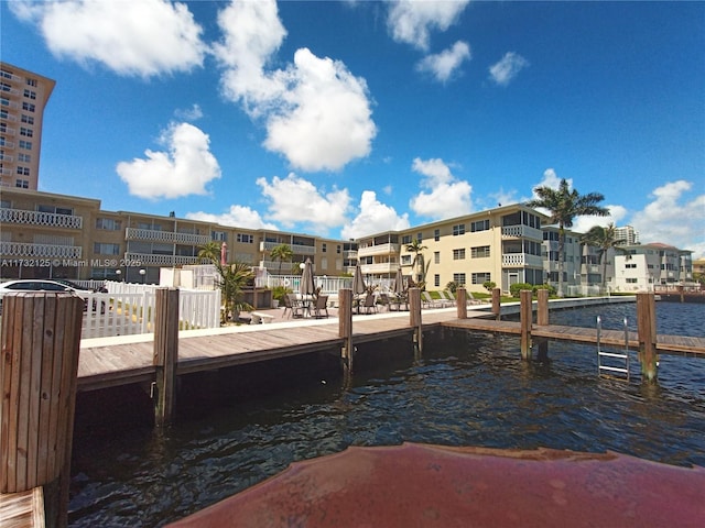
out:
<path id="1" fill-rule="evenodd" d="M 156 286 L 106 282 L 107 294 L 89 294 L 82 339 L 154 331 Z M 220 290 L 178 292 L 178 329 L 218 328 Z"/>

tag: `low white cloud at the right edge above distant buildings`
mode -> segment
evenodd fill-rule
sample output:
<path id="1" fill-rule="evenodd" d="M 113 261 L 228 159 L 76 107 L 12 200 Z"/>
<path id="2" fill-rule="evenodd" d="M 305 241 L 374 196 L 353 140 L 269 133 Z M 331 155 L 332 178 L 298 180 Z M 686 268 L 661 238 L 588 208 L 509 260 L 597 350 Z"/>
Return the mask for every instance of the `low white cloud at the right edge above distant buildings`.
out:
<path id="1" fill-rule="evenodd" d="M 641 243 L 662 242 L 692 250 L 695 257 L 705 255 L 705 193 L 692 188 L 691 182 L 680 179 L 653 189 L 652 201 L 631 217 Z"/>

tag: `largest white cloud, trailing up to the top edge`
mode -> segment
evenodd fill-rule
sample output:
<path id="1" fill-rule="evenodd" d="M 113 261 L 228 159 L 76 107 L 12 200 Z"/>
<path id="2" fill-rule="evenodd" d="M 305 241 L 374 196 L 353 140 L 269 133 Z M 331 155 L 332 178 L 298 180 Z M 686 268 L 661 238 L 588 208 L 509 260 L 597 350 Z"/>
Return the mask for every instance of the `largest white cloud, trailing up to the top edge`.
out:
<path id="1" fill-rule="evenodd" d="M 338 170 L 370 153 L 377 128 L 365 79 L 307 48 L 284 69 L 267 70 L 286 35 L 274 2 L 234 1 L 220 12 L 226 97 L 267 125 L 263 145 L 302 170 Z"/>

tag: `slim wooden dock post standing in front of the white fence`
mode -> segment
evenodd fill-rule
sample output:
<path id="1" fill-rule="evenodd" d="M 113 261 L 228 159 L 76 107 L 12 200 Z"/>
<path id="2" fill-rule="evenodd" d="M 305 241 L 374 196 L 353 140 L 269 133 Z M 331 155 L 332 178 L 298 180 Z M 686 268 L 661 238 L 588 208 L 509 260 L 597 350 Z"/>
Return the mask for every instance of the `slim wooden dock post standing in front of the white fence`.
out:
<path id="1" fill-rule="evenodd" d="M 156 288 L 154 302 L 154 367 L 156 376 L 154 422 L 158 427 L 169 426 L 174 419 L 177 362 L 178 289 Z"/>

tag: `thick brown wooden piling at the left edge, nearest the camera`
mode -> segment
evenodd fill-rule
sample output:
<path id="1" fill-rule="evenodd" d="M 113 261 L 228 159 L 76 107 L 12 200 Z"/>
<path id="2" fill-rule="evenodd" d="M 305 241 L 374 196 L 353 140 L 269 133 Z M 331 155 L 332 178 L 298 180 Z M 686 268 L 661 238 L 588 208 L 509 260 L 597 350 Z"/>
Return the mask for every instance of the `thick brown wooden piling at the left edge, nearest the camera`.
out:
<path id="1" fill-rule="evenodd" d="M 85 301 L 26 293 L 2 305 L 0 492 L 44 486 L 46 526 L 64 527 Z"/>

